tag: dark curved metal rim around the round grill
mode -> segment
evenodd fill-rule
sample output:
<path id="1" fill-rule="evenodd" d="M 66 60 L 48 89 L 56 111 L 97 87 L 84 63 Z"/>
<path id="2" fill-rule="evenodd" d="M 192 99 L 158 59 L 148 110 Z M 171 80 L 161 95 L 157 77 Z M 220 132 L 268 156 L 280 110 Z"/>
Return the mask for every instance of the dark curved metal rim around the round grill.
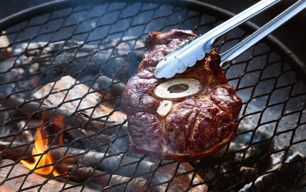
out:
<path id="1" fill-rule="evenodd" d="M 14 14 L 10 17 L 7 17 L 5 19 L 0 20 L 0 31 L 3 31 L 7 29 L 10 26 L 16 25 L 17 23 L 20 23 L 24 20 L 28 20 L 32 17 L 36 17 L 41 14 L 45 14 L 48 12 L 54 12 L 57 10 L 61 10 L 67 7 L 78 7 L 78 6 L 83 6 L 83 5 L 88 5 L 88 4 L 102 4 L 102 3 L 108 3 L 112 1 L 72 1 L 72 0 L 63 0 L 63 1 L 54 1 L 46 4 L 42 4 L 40 6 L 36 6 L 27 10 L 24 10 L 22 12 L 19 12 L 17 14 Z M 125 2 L 125 1 L 116 1 L 116 2 Z M 173 6 L 175 5 L 176 7 L 182 7 L 190 10 L 195 10 L 199 11 L 201 13 L 205 12 L 206 14 L 214 15 L 217 19 L 228 19 L 230 17 L 233 17 L 235 14 L 225 11 L 223 9 L 211 6 L 206 3 L 201 3 L 197 1 L 187 1 L 187 0 L 181 0 L 181 1 L 175 1 L 175 0 L 170 0 L 170 1 L 150 1 L 150 0 L 145 0 L 145 1 L 133 1 L 133 3 L 136 2 L 141 2 L 141 3 L 156 3 L 156 4 L 164 4 L 164 5 L 170 5 Z M 243 26 L 241 26 L 241 29 L 248 33 L 252 33 L 253 31 L 256 31 L 259 27 L 254 25 L 251 22 L 245 23 Z M 263 42 L 267 43 L 270 47 L 272 47 L 276 52 L 278 53 L 284 53 L 284 59 L 290 63 L 290 66 L 294 69 L 296 74 L 299 76 L 300 79 L 304 80 L 304 77 L 306 75 L 306 66 L 298 59 L 298 57 L 293 54 L 288 47 L 286 47 L 282 42 L 278 41 L 275 37 L 272 35 L 269 35 L 266 37 Z M 229 147 L 229 146 L 228 146 Z M 227 147 L 227 149 L 228 149 Z M 145 157 L 145 156 L 144 156 Z M 304 159 L 305 161 L 305 159 Z M 220 163 L 221 164 L 221 163 Z M 219 166 L 220 166 L 219 164 Z M 178 167 L 177 167 L 178 169 Z M 176 171 L 177 171 L 176 169 Z M 219 167 L 218 167 L 219 169 Z M 192 184 L 192 183 L 191 183 Z M 196 186 L 196 185 L 194 185 Z M 193 186 L 193 187 L 194 187 Z M 168 189 L 169 184 L 167 185 L 166 190 Z M 231 189 L 231 187 L 230 187 Z M 230 190 L 229 189 L 229 190 Z"/>

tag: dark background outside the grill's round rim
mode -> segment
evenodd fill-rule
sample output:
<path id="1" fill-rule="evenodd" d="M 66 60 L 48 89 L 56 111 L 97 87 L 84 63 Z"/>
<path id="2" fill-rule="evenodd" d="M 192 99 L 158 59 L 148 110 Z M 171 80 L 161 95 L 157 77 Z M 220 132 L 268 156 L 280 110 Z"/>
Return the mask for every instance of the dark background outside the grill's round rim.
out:
<path id="1" fill-rule="evenodd" d="M 0 0 L 0 19 L 14 14 L 18 11 L 50 2 L 51 0 Z M 84 0 L 86 1 L 86 0 Z M 128 1 L 128 0 L 127 0 Z M 165 0 L 166 1 L 166 0 Z M 256 4 L 258 0 L 200 0 L 205 3 L 215 5 L 217 7 L 226 9 L 228 11 L 239 13 L 244 9 Z M 295 3 L 296 0 L 283 0 L 278 5 L 274 6 L 266 13 L 252 19 L 254 23 L 263 26 L 267 21 L 271 20 L 274 16 L 284 11 L 290 5 Z M 285 23 L 281 28 L 273 32 L 273 35 L 281 40 L 289 49 L 295 53 L 303 63 L 306 63 L 306 10 L 295 16 L 289 22 Z"/>

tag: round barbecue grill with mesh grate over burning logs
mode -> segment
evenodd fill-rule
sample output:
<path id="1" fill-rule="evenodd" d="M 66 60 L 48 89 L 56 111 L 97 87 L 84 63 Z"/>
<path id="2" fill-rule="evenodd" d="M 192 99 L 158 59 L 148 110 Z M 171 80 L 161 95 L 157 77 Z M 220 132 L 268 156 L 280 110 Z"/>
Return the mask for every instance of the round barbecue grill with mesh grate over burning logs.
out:
<path id="1" fill-rule="evenodd" d="M 227 147 L 190 163 L 129 151 L 121 93 L 148 32 L 199 35 L 232 16 L 197 1 L 63 0 L 1 20 L 0 188 L 305 191 L 306 67 L 273 36 L 223 67 L 243 101 Z M 218 53 L 257 29 L 228 33 Z"/>

